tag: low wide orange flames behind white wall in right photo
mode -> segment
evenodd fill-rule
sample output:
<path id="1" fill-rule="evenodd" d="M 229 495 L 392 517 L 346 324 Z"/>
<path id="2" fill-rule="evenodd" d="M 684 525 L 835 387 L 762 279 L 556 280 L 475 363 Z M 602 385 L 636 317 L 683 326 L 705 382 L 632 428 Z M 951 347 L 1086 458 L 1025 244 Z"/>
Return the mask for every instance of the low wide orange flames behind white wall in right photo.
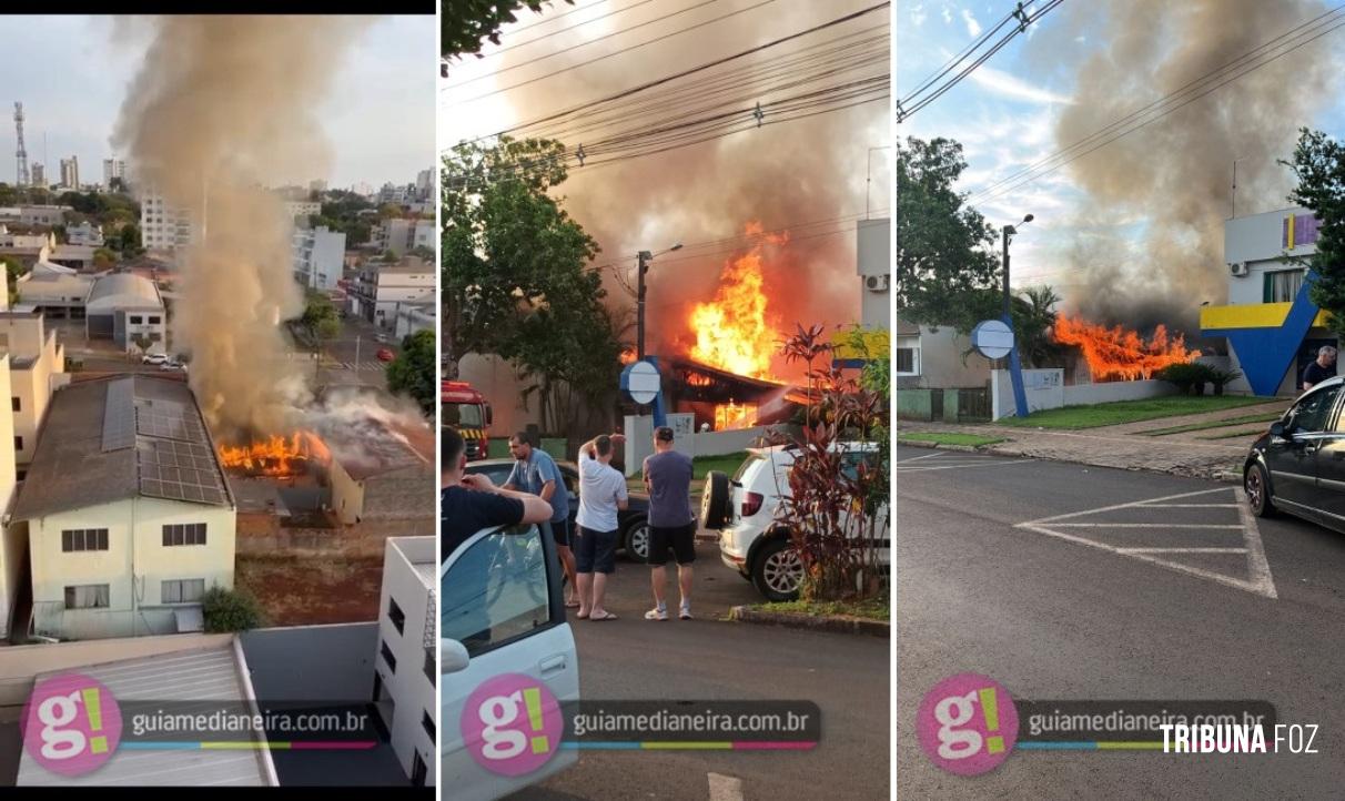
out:
<path id="1" fill-rule="evenodd" d="M 1169 339 L 1163 325 L 1145 341 L 1138 332 L 1120 325 L 1106 328 L 1061 314 L 1054 336 L 1059 343 L 1079 347 L 1095 382 L 1147 379 L 1169 364 L 1186 364 L 1200 356 L 1200 351 L 1186 349 L 1182 335 Z"/>

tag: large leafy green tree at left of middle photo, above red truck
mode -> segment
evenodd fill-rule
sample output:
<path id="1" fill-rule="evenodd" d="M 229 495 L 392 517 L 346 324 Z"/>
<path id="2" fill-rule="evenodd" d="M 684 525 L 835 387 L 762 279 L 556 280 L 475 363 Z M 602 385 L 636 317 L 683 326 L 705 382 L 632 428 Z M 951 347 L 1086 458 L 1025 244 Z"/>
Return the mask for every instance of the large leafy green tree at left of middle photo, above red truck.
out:
<path id="1" fill-rule="evenodd" d="M 549 189 L 566 177 L 565 145 L 500 137 L 444 159 L 443 324 L 448 357 L 499 353 L 537 383 L 543 427 L 609 407 L 620 372 L 619 321 L 585 265 L 597 242 Z"/>

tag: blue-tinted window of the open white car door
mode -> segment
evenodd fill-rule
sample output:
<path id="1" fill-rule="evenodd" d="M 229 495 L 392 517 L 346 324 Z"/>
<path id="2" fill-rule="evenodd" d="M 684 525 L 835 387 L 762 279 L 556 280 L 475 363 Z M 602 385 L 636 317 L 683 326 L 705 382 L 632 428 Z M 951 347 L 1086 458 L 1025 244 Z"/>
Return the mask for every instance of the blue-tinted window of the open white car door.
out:
<path id="1" fill-rule="evenodd" d="M 475 656 L 551 622 L 550 585 L 538 527 L 512 527 L 463 551 L 440 582 L 443 637 Z"/>

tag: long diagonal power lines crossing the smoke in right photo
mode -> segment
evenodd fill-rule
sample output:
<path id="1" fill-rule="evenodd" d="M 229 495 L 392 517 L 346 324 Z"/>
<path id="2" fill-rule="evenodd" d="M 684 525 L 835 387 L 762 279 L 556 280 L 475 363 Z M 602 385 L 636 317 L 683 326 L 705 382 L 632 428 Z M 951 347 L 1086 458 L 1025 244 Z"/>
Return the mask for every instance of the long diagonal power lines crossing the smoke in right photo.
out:
<path id="1" fill-rule="evenodd" d="M 1087 156 L 1087 155 L 1089 155 L 1089 153 L 1092 153 L 1092 152 L 1095 152 L 1095 151 L 1098 151 L 1098 149 L 1100 149 L 1100 148 L 1103 148 L 1103 146 L 1106 146 L 1106 145 L 1116 141 L 1118 138 L 1128 136 L 1128 134 L 1131 134 L 1131 133 L 1134 133 L 1134 132 L 1137 132 L 1137 130 L 1139 130 L 1139 129 L 1142 129 L 1142 128 L 1145 128 L 1145 126 L 1147 126 L 1147 125 L 1150 125 L 1153 122 L 1157 122 L 1158 120 L 1162 120 L 1167 114 L 1171 114 L 1173 112 L 1190 105 L 1192 102 L 1194 102 L 1194 101 L 1197 101 L 1197 99 L 1208 95 L 1209 93 L 1215 91 L 1216 89 L 1220 89 L 1220 87 L 1223 87 L 1223 86 L 1225 86 L 1225 85 L 1236 81 L 1237 78 L 1241 78 L 1243 75 L 1245 75 L 1248 73 L 1259 70 L 1260 67 L 1264 67 L 1266 65 L 1272 63 L 1272 62 L 1280 59 L 1282 56 L 1289 55 L 1290 52 L 1294 52 L 1295 50 L 1298 50 L 1298 48 L 1301 48 L 1301 47 L 1311 43 L 1311 42 L 1315 42 L 1317 39 L 1321 39 L 1322 36 L 1325 36 L 1325 35 L 1336 31 L 1337 28 L 1345 26 L 1345 17 L 1337 17 L 1337 19 L 1334 19 L 1332 22 L 1322 23 L 1322 20 L 1325 20 L 1326 17 L 1330 17 L 1330 16 L 1334 16 L 1334 15 L 1340 13 L 1342 9 L 1345 9 L 1345 5 L 1336 7 L 1336 8 L 1333 8 L 1332 11 L 1329 11 L 1326 13 L 1322 13 L 1322 15 L 1319 15 L 1319 16 L 1317 16 L 1317 17 L 1306 22 L 1306 23 L 1299 24 L 1295 28 L 1291 28 L 1290 31 L 1286 31 L 1284 34 L 1280 34 L 1279 36 L 1275 36 L 1274 39 L 1267 40 L 1266 43 L 1263 43 L 1263 44 L 1260 44 L 1260 46 L 1258 46 L 1258 47 L 1255 47 L 1255 48 L 1244 52 L 1243 55 L 1235 58 L 1233 60 L 1225 63 L 1224 66 L 1221 66 L 1219 69 L 1215 69 L 1215 70 L 1206 73 L 1205 75 L 1202 75 L 1202 77 L 1200 77 L 1200 78 L 1197 78 L 1194 81 L 1188 82 L 1186 85 L 1184 85 L 1182 87 L 1177 89 L 1176 91 L 1173 91 L 1173 93 L 1170 93 L 1170 94 L 1167 94 L 1167 95 L 1165 95 L 1165 97 L 1162 97 L 1162 98 L 1159 98 L 1159 99 L 1157 99 L 1157 101 L 1154 101 L 1154 102 L 1151 102 L 1151 103 L 1149 103 L 1149 105 L 1146 105 L 1146 106 L 1143 106 L 1141 109 L 1137 109 L 1135 112 L 1131 112 L 1130 114 L 1126 114 L 1124 117 L 1120 117 L 1119 120 L 1111 122 L 1110 125 L 1107 125 L 1107 126 L 1104 126 L 1104 128 L 1102 128 L 1102 129 L 1099 129 L 1099 130 L 1088 134 L 1087 137 L 1084 137 L 1084 138 L 1073 142 L 1072 145 L 1069 145 L 1067 148 L 1063 148 L 1061 151 L 1057 151 L 1056 153 L 1053 153 L 1053 155 L 1050 155 L 1050 156 L 1048 156 L 1048 157 L 1037 161 L 1036 164 L 1029 165 L 1028 168 L 1021 169 L 1017 173 L 1014 173 L 1014 175 L 1010 175 L 1010 176 L 1007 176 L 1005 179 L 1001 179 L 1001 180 L 993 183 L 991 185 L 989 185 L 989 187 L 981 189 L 979 192 L 976 192 L 974 198 L 968 198 L 968 203 L 983 203 L 983 202 L 987 202 L 987 200 L 993 200 L 993 199 L 999 198 L 999 196 L 1002 196 L 1002 195 L 1005 195 L 1007 192 L 1011 192 L 1011 191 L 1014 191 L 1014 189 L 1017 189 L 1020 187 L 1024 187 L 1024 185 L 1026 185 L 1029 183 L 1033 183 L 1033 181 L 1036 181 L 1037 179 L 1040 179 L 1042 176 L 1050 175 L 1052 172 L 1060 169 L 1061 167 L 1065 167 L 1067 164 L 1071 164 L 1071 163 L 1073 163 L 1073 161 L 1076 161 L 1076 160 L 1079 160 L 1079 159 L 1081 159 L 1081 157 L 1084 157 L 1084 156 Z M 1322 24 L 1319 24 L 1319 23 L 1322 23 Z M 1313 31 L 1318 31 L 1318 32 L 1315 35 L 1313 35 L 1313 36 L 1309 36 L 1309 34 L 1311 34 Z M 1278 52 L 1278 54 L 1275 54 L 1275 55 L 1272 55 L 1270 58 L 1264 58 L 1264 56 L 1270 55 L 1271 51 L 1274 51 L 1276 48 L 1280 48 L 1280 47 L 1284 47 L 1286 44 L 1289 44 L 1290 42 L 1293 42 L 1295 39 L 1298 39 L 1298 42 L 1294 43 L 1293 46 L 1290 46 L 1287 50 L 1283 50 L 1282 52 Z M 1258 59 L 1263 59 L 1263 60 L 1258 60 Z M 1217 81 L 1217 82 L 1210 83 L 1210 85 L 1204 86 L 1204 87 L 1200 86 L 1200 85 L 1210 82 L 1210 81 Z M 1188 95 L 1188 97 L 1184 97 L 1184 95 Z M 1176 102 L 1178 99 L 1181 99 L 1180 103 L 1169 105 L 1169 103 L 1173 103 L 1173 102 Z M 1167 108 L 1163 108 L 1165 105 Z M 1154 116 L 1149 117 L 1147 120 L 1139 122 L 1139 120 L 1142 117 L 1145 117 L 1150 112 L 1157 112 L 1157 113 Z M 1107 136 L 1111 132 L 1118 132 L 1118 133 L 1115 133 L 1114 136 Z M 1102 137 L 1107 137 L 1107 138 L 1103 138 L 1102 141 L 1098 141 Z M 1096 144 L 1092 144 L 1092 142 L 1096 142 Z M 1089 144 L 1092 144 L 1092 146 L 1087 146 Z M 1087 149 L 1080 151 L 1080 148 L 1084 148 L 1084 146 L 1087 146 Z M 1079 152 L 1075 152 L 1075 151 L 1079 151 Z M 1071 155 L 1072 152 L 1073 152 L 1073 155 Z M 1059 163 L 1054 164 L 1054 165 L 1052 165 L 1052 167 L 1049 167 L 1049 168 L 1045 168 L 1048 164 L 1050 164 L 1053 161 L 1059 161 Z"/>

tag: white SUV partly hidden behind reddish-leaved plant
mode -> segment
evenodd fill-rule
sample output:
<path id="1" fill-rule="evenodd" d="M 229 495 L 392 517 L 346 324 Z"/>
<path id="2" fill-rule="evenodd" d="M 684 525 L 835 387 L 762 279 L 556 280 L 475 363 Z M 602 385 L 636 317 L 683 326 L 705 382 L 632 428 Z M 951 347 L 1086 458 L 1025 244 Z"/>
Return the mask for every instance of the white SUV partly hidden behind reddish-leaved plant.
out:
<path id="1" fill-rule="evenodd" d="M 834 448 L 845 454 L 846 468 L 873 458 L 872 442 L 842 442 Z M 792 601 L 799 597 L 803 563 L 790 544 L 790 531 L 776 523 L 783 497 L 790 497 L 790 468 L 796 449 L 792 445 L 751 448 L 748 458 L 732 478 L 712 470 L 701 495 L 701 527 L 720 532 L 720 558 L 737 570 L 768 601 Z M 878 543 L 878 566 L 890 571 L 892 535 L 889 503 L 877 509 L 874 531 Z"/>

